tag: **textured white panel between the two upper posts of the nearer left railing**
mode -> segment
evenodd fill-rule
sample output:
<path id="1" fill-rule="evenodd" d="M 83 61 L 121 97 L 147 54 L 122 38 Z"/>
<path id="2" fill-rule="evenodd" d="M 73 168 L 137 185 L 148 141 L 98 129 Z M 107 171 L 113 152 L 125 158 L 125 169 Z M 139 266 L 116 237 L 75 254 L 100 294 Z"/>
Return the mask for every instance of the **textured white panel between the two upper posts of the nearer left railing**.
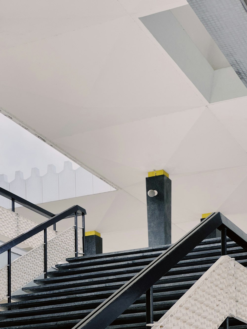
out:
<path id="1" fill-rule="evenodd" d="M 61 262 L 75 252 L 75 227 L 58 234 L 47 242 L 47 268 Z"/>

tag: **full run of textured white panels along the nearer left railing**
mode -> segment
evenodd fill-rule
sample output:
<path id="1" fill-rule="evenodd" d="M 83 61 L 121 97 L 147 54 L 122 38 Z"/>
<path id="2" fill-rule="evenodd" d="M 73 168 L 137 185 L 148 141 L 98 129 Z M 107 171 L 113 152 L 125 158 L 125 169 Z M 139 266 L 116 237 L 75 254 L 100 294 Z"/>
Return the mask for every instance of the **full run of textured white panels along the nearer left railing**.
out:
<path id="1" fill-rule="evenodd" d="M 74 253 L 74 226 L 47 242 L 47 268 L 63 261 Z M 11 291 L 31 282 L 44 270 L 44 245 L 32 249 L 11 263 Z M 7 296 L 7 266 L 0 269 L 0 300 Z"/>

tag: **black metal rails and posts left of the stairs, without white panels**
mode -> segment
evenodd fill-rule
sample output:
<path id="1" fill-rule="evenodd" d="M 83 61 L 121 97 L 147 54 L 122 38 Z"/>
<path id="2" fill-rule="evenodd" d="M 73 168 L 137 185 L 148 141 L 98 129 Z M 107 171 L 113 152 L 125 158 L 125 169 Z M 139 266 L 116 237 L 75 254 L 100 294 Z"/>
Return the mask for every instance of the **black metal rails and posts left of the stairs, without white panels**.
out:
<path id="1" fill-rule="evenodd" d="M 30 237 L 34 236 L 35 234 L 43 231 L 44 232 L 44 278 L 47 278 L 47 228 L 49 226 L 53 225 L 53 230 L 56 230 L 56 223 L 59 222 L 62 219 L 70 218 L 74 216 L 74 227 L 75 227 L 75 257 L 78 256 L 78 254 L 85 255 L 85 215 L 86 210 L 78 205 L 73 206 L 65 211 L 63 211 L 60 214 L 52 214 L 49 211 L 19 197 L 18 195 L 15 195 L 12 192 L 9 192 L 7 190 L 4 190 L 3 188 L 0 188 L 0 195 L 12 200 L 12 211 L 14 212 L 14 203 L 18 203 L 40 215 L 45 216 L 46 218 L 49 218 L 45 222 L 35 226 L 31 230 L 20 234 L 18 237 L 2 244 L 0 246 L 0 254 L 2 254 L 5 251 L 8 251 L 8 303 L 11 303 L 11 248 L 15 247 L 17 244 L 29 239 Z M 82 250 L 83 252 L 78 252 L 78 215 L 82 216 Z M 69 255 L 68 255 L 69 256 Z"/>

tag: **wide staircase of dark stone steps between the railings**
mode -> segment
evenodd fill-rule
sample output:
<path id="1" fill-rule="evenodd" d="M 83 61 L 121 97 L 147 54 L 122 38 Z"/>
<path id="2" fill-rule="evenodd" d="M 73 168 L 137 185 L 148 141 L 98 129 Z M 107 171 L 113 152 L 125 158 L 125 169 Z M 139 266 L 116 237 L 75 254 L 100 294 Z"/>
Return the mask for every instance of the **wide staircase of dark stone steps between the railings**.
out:
<path id="1" fill-rule="evenodd" d="M 0 328 L 73 328 L 114 291 L 147 266 L 170 245 L 67 259 L 47 279 L 23 288 L 14 303 L 0 305 Z M 230 239 L 227 252 L 247 267 L 247 252 Z M 206 239 L 153 286 L 154 321 L 201 277 L 221 255 L 220 239 Z M 230 328 L 247 329 L 234 318 Z M 142 295 L 108 328 L 146 328 L 146 300 Z M 100 324 L 98 329 L 101 329 Z"/>

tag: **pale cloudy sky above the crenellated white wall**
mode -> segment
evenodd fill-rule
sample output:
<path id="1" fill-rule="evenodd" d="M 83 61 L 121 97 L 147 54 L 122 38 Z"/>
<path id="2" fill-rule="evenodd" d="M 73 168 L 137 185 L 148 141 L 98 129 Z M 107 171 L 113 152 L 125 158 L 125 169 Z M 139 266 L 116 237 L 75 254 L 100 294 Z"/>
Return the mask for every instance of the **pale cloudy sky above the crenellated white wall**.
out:
<path id="1" fill-rule="evenodd" d="M 57 172 L 60 172 L 63 170 L 64 161 L 71 161 L 1 113 L 0 149 L 0 174 L 7 175 L 8 182 L 13 181 L 17 170 L 21 170 L 26 179 L 30 177 L 33 167 L 37 167 L 43 176 L 47 172 L 48 164 L 54 164 Z M 71 162 L 73 169 L 79 167 Z"/>

